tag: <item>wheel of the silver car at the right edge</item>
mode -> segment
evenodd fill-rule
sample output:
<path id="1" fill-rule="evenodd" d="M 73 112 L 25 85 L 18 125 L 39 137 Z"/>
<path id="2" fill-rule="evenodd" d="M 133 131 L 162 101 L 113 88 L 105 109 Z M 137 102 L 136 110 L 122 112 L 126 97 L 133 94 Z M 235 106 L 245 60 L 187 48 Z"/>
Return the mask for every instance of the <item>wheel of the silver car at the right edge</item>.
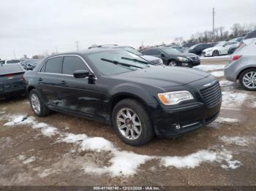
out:
<path id="1" fill-rule="evenodd" d="M 244 89 L 256 91 L 256 69 L 246 69 L 239 77 L 239 82 Z"/>

